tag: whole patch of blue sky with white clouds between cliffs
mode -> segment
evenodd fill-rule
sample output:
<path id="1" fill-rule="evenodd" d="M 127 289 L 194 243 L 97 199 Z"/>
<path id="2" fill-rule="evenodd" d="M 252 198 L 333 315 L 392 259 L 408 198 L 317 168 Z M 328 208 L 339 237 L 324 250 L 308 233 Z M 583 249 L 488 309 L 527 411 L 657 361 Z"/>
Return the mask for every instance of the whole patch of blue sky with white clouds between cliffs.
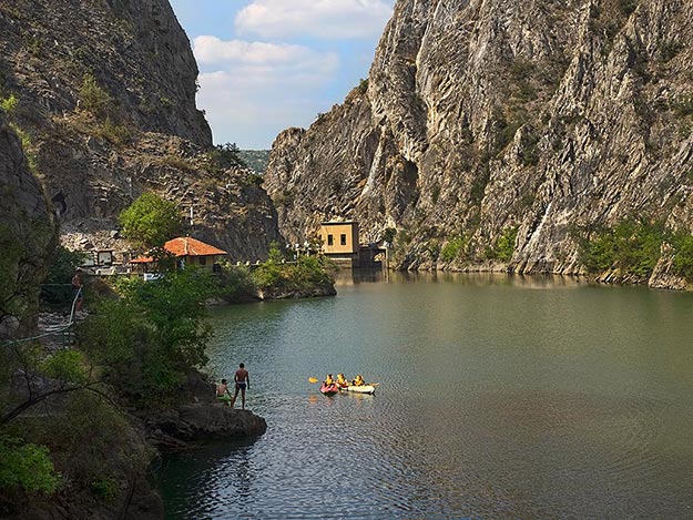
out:
<path id="1" fill-rule="evenodd" d="M 368 77 L 395 0 L 171 0 L 214 142 L 269 149 Z"/>

